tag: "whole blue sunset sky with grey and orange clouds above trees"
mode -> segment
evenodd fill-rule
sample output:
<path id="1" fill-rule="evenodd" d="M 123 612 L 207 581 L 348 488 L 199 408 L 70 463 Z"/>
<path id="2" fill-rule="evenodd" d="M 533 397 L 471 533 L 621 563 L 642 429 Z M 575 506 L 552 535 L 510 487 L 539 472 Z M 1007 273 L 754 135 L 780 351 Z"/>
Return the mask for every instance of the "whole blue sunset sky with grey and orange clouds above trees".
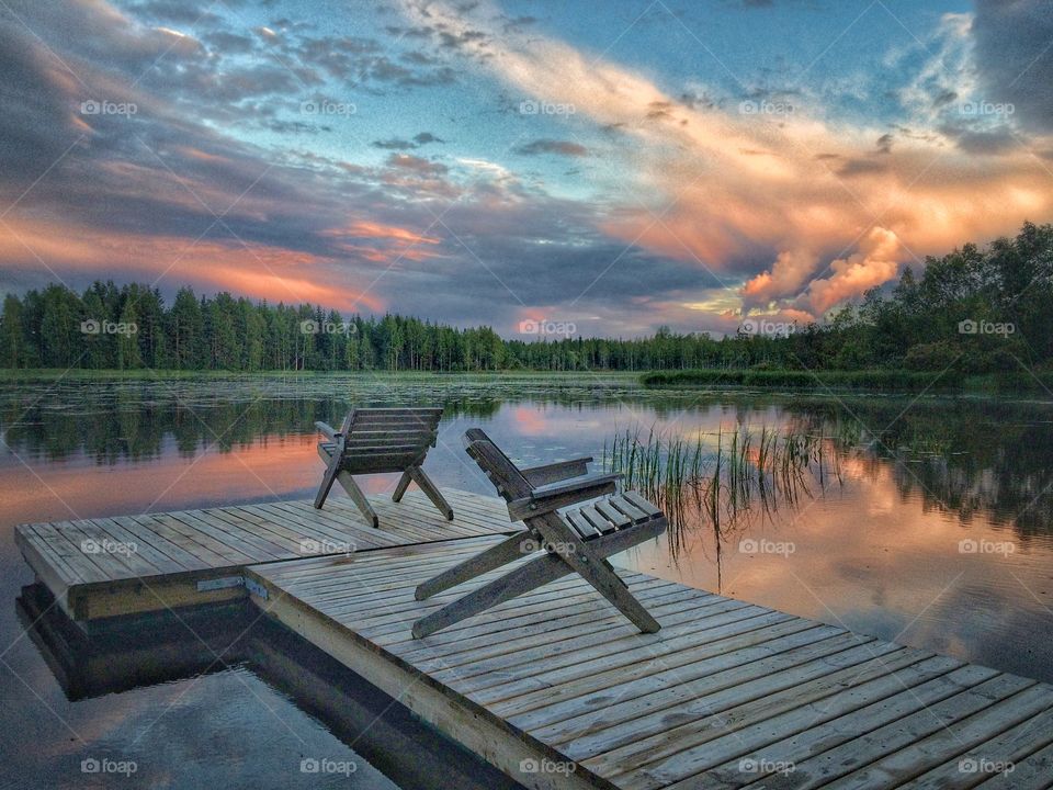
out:
<path id="1" fill-rule="evenodd" d="M 0 0 L 0 292 L 808 321 L 1053 219 L 1050 0 Z"/>

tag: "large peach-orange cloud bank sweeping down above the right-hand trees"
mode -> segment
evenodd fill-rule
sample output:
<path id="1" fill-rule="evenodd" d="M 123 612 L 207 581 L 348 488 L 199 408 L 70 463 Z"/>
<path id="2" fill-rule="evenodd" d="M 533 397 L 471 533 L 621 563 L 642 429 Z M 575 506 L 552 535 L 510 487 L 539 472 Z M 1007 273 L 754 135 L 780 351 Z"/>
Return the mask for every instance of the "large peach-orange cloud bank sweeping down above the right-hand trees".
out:
<path id="1" fill-rule="evenodd" d="M 441 3 L 427 11 L 408 3 L 405 13 L 461 35 L 522 95 L 570 105 L 575 117 L 629 138 L 619 176 L 637 200 L 611 213 L 605 233 L 715 272 L 758 246 L 775 250 L 743 286 L 747 305 L 807 294 L 812 307 L 828 309 L 895 276 L 915 255 L 1053 217 L 1049 171 L 1023 146 L 977 157 L 932 122 L 879 149 L 886 127 L 835 123 L 806 100 L 778 115 L 698 109 L 536 31 L 529 41 L 492 31 L 500 52 L 473 43 L 465 34 L 485 27 L 483 12 L 466 19 Z M 823 251 L 842 248 L 848 255 L 830 264 L 834 275 L 809 285 Z"/>

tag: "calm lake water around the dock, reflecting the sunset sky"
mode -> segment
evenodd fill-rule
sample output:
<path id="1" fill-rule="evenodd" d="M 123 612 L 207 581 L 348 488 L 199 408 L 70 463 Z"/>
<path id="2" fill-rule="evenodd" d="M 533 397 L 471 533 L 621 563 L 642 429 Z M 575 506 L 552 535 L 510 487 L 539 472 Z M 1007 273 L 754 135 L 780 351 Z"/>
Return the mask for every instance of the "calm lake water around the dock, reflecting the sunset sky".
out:
<path id="1" fill-rule="evenodd" d="M 214 645 L 211 622 L 194 627 L 204 641 L 177 624 L 182 635 L 167 648 L 151 625 L 141 644 L 123 639 L 72 657 L 41 635 L 63 633 L 61 621 L 47 616 L 27 630 L 39 610 L 22 591 L 33 579 L 14 524 L 308 496 L 321 471 L 313 424 L 339 420 L 352 403 L 444 405 L 427 469 L 441 485 L 482 494 L 492 489 L 461 449 L 471 426 L 526 464 L 599 460 L 625 429 L 706 441 L 761 426 L 819 437 L 822 475 L 809 469 L 770 501 L 724 500 L 718 524 L 689 511 L 620 562 L 1053 681 L 1053 398 L 658 394 L 620 376 L 7 384 L 0 787 L 325 787 L 301 771 L 304 759 L 346 766 L 326 777 L 331 787 L 462 787 L 466 776 L 499 786 L 251 619 L 225 653 L 230 627 Z M 394 479 L 365 483 L 380 493 Z M 136 772 L 82 772 L 91 759 L 112 770 L 134 763 Z"/>

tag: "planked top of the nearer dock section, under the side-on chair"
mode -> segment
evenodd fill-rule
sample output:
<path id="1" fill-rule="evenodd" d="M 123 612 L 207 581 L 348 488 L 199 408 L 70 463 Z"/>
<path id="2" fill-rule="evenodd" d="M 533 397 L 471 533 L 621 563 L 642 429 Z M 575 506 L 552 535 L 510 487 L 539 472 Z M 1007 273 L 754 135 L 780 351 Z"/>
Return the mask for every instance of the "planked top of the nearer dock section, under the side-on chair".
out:
<path id="1" fill-rule="evenodd" d="M 974 740 L 985 743 L 996 743 L 995 731 L 1021 726 L 1038 708 L 1053 714 L 1046 686 L 1019 678 L 992 686 L 1009 676 L 678 585 L 648 586 L 642 574 L 624 578 L 663 618 L 656 634 L 636 632 L 604 610 L 580 577 L 569 576 L 421 643 L 406 630 L 437 606 L 411 595 L 422 572 L 451 567 L 478 548 L 410 546 L 388 557 L 389 551 L 362 555 L 358 568 L 349 558 L 263 573 L 306 611 L 344 629 L 349 640 L 392 666 L 420 673 L 418 684 L 441 690 L 474 719 L 496 722 L 506 740 L 574 761 L 577 776 L 597 787 L 687 790 L 754 779 L 792 787 L 793 775 L 743 774 L 739 759 L 775 755 L 814 764 L 856 743 L 873 749 L 873 758 L 843 772 L 893 787 L 893 779 L 953 756 L 938 722 L 930 731 L 919 723 L 928 709 L 950 704 L 938 721 L 975 721 Z M 351 589 L 355 574 L 360 588 Z M 439 594 L 438 605 L 455 592 Z M 1015 709 L 1014 701 L 1030 707 Z M 984 720 L 995 710 L 1004 714 Z M 909 740 L 896 740 L 892 727 L 901 726 Z M 880 743 L 869 743 L 867 733 L 883 727 Z M 455 724 L 448 730 L 454 737 L 458 731 Z M 1017 753 L 1044 745 L 1040 736 L 1020 735 L 1015 743 Z M 852 755 L 846 752 L 837 765 Z M 890 772 L 868 772 L 881 760 L 888 760 Z"/>

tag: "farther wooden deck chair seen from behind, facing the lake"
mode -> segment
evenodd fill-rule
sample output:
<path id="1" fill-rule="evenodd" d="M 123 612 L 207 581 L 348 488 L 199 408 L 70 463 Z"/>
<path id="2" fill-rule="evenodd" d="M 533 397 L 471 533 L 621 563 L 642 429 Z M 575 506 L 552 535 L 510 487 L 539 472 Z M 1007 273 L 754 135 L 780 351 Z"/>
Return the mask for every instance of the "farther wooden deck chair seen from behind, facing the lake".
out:
<path id="1" fill-rule="evenodd" d="M 362 515 L 374 527 L 380 527 L 370 500 L 351 475 L 401 472 L 393 500 L 399 501 L 414 482 L 452 521 L 453 509 L 420 467 L 428 449 L 435 445 L 441 417 L 442 409 L 432 407 L 358 408 L 344 418 L 339 431 L 325 422 L 315 422 L 315 427 L 327 437 L 327 441 L 318 442 L 318 454 L 326 462 L 326 473 L 315 496 L 315 507 L 325 504 L 332 484 L 339 482 Z"/>

